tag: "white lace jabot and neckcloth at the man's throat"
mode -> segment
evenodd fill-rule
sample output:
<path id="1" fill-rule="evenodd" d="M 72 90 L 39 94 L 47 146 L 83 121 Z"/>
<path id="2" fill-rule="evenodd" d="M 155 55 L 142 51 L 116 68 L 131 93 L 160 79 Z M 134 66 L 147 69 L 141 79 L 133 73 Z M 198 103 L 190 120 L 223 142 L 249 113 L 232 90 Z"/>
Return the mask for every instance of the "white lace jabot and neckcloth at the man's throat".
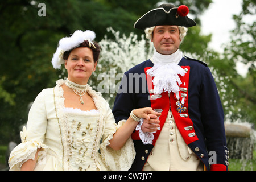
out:
<path id="1" fill-rule="evenodd" d="M 177 94 L 179 92 L 181 81 L 178 75 L 184 76 L 186 73 L 178 65 L 181 59 L 182 52 L 179 49 L 171 55 L 161 55 L 156 50 L 154 51 L 151 59 L 154 66 L 147 70 L 147 74 L 154 76 L 152 82 L 155 94 L 162 92 L 174 92 Z"/>

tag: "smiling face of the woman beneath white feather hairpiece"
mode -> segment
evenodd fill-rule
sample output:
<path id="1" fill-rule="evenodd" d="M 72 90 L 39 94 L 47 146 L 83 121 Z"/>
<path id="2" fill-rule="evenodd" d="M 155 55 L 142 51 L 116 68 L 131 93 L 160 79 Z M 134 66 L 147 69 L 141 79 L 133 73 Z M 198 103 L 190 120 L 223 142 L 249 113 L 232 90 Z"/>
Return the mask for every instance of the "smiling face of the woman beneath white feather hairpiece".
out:
<path id="1" fill-rule="evenodd" d="M 68 71 L 68 80 L 76 84 L 86 85 L 92 72 L 96 69 L 92 49 L 78 47 L 71 51 L 65 60 L 65 68 Z"/>

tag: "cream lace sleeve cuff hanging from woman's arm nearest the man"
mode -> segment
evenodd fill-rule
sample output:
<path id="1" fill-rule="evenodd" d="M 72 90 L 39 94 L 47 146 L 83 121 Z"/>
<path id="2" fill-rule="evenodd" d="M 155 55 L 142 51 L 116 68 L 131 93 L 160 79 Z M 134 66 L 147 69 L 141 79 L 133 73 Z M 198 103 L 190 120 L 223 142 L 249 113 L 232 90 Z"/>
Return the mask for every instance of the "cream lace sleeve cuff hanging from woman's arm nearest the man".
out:
<path id="1" fill-rule="evenodd" d="M 110 148 L 108 145 L 109 140 L 113 138 L 115 131 L 119 129 L 125 123 L 126 120 L 118 122 L 118 125 L 115 126 L 113 130 L 101 143 L 101 158 L 106 164 L 106 166 L 111 171 L 127 171 L 130 169 L 131 164 L 135 158 L 135 149 L 133 144 L 133 139 L 131 137 L 126 141 L 123 147 L 116 151 Z"/>

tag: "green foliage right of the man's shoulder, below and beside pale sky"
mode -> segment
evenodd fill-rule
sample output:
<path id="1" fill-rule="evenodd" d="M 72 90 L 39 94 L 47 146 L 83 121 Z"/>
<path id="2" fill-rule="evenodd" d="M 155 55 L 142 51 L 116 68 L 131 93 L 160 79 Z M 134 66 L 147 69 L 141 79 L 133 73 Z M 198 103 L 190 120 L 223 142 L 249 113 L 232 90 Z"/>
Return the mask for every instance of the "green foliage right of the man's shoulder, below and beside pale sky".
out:
<path id="1" fill-rule="evenodd" d="M 255 3 L 243 0 L 242 12 L 233 15 L 236 28 L 231 31 L 231 41 L 225 45 L 224 53 L 207 48 L 203 54 L 197 54 L 213 72 L 225 120 L 230 122 L 256 123 Z M 246 77 L 238 74 L 237 70 L 241 68 L 237 68 L 237 63 L 243 63 L 249 68 Z"/>

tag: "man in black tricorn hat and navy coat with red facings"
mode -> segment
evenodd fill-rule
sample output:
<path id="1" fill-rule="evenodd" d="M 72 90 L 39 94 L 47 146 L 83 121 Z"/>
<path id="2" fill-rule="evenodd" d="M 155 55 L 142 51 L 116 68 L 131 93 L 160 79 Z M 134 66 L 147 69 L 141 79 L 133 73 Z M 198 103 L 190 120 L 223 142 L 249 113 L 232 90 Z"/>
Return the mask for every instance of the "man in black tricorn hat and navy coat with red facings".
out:
<path id="1" fill-rule="evenodd" d="M 125 73 L 113 114 L 116 122 L 141 107 L 161 115 L 160 123 L 141 119 L 132 134 L 136 157 L 130 170 L 228 170 L 224 113 L 212 73 L 179 50 L 187 28 L 196 25 L 187 14 L 187 6 L 163 4 L 134 24 L 155 51 Z"/>

